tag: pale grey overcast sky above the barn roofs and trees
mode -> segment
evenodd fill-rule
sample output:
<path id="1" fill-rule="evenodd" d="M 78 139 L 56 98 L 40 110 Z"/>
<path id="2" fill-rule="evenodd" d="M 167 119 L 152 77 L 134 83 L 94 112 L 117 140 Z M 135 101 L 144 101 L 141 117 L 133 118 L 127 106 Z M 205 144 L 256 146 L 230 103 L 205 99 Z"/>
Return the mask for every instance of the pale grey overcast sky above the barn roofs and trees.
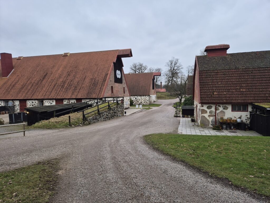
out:
<path id="1" fill-rule="evenodd" d="M 228 53 L 270 50 L 270 0 L 0 0 L 0 52 L 13 57 L 131 48 L 133 62 L 183 67 L 207 45 Z"/>

